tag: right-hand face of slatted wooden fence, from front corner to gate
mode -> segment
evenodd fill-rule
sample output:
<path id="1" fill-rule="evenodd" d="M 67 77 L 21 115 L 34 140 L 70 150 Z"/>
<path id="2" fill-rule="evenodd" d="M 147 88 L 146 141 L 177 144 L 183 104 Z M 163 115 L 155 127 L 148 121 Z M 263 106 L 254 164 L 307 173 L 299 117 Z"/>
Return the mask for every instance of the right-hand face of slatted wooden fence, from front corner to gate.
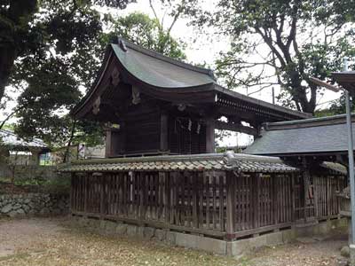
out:
<path id="1" fill-rule="evenodd" d="M 235 231 L 292 222 L 291 176 L 254 174 L 235 180 Z"/>

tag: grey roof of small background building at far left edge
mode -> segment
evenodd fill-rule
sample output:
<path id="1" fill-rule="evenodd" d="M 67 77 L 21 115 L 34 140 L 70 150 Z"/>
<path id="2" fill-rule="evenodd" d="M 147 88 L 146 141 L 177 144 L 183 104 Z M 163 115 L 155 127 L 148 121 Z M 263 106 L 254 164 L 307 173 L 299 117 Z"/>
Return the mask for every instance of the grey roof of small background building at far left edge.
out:
<path id="1" fill-rule="evenodd" d="M 2 145 L 7 146 L 9 149 L 26 148 L 26 147 L 40 148 L 40 149 L 48 148 L 48 146 L 44 144 L 42 139 L 33 138 L 30 141 L 26 141 L 25 139 L 20 138 L 10 130 L 0 129 L 0 138 L 1 138 L 0 141 L 2 142 Z"/>

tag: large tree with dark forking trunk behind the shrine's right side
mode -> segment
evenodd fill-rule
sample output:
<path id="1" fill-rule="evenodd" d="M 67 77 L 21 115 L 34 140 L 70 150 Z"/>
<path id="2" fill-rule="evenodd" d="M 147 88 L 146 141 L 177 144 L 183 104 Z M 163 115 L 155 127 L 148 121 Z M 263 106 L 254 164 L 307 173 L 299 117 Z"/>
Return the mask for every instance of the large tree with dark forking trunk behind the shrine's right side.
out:
<path id="1" fill-rule="evenodd" d="M 309 78 L 329 78 L 354 54 L 354 11 L 353 0 L 219 0 L 212 19 L 205 12 L 196 22 L 231 38 L 217 60 L 228 87 L 280 85 L 283 105 L 314 113 L 321 88 Z"/>

